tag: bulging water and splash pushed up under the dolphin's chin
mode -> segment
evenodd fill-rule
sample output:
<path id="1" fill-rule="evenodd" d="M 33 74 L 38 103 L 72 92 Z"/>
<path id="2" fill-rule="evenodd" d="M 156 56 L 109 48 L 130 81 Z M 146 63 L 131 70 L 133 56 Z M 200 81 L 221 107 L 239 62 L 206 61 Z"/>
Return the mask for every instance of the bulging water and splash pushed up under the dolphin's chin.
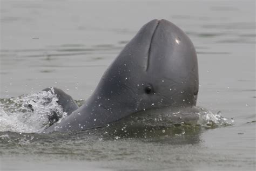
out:
<path id="1" fill-rule="evenodd" d="M 122 121 L 131 122 L 131 125 L 147 125 L 160 127 L 199 126 L 215 128 L 233 125 L 234 120 L 221 116 L 221 112 L 212 113 L 203 107 L 184 108 L 152 108 L 135 113 L 129 119 Z"/>

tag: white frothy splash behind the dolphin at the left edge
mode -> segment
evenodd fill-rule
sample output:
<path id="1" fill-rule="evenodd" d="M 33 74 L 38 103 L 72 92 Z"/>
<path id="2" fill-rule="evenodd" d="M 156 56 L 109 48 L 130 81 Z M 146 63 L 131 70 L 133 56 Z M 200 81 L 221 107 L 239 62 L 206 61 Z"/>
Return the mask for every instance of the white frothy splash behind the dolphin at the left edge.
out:
<path id="1" fill-rule="evenodd" d="M 40 133 L 66 116 L 51 91 L 0 99 L 0 132 Z"/>

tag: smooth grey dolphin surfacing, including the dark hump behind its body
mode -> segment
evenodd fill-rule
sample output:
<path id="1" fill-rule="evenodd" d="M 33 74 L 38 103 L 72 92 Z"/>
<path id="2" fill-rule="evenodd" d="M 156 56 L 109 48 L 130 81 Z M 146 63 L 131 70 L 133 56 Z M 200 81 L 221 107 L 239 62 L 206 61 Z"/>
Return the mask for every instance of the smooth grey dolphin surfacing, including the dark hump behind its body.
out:
<path id="1" fill-rule="evenodd" d="M 68 116 L 45 133 L 103 127 L 154 108 L 192 108 L 198 85 L 197 54 L 190 38 L 171 22 L 154 19 L 124 47 L 83 106 L 78 108 L 55 88 Z"/>

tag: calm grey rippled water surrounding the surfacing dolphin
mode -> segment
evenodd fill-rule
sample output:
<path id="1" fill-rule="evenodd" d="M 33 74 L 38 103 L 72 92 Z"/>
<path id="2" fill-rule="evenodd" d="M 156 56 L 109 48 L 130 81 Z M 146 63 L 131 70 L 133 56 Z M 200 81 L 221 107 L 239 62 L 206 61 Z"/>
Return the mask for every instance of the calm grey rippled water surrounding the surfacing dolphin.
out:
<path id="1" fill-rule="evenodd" d="M 22 94 L 35 98 L 49 86 L 86 100 L 106 67 L 153 18 L 170 20 L 192 39 L 199 62 L 198 106 L 213 115 L 221 111 L 233 118 L 232 125 L 157 127 L 128 137 L 109 136 L 111 128 L 45 135 L 31 133 L 48 124 L 45 115 L 32 128 L 23 127 L 30 133 L 20 133 L 29 120 L 17 118 L 12 127 L 1 126 L 0 169 L 254 170 L 254 1 L 2 0 L 1 105 Z"/>

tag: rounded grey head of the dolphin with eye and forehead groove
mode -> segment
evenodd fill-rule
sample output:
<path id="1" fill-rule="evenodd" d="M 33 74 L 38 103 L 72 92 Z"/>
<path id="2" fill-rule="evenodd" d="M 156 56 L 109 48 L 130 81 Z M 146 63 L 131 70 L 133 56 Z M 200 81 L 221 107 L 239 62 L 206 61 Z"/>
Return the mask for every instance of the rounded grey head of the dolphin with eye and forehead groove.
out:
<path id="1" fill-rule="evenodd" d="M 190 38 L 167 20 L 152 20 L 120 52 L 95 92 L 126 110 L 195 106 L 198 63 Z"/>

